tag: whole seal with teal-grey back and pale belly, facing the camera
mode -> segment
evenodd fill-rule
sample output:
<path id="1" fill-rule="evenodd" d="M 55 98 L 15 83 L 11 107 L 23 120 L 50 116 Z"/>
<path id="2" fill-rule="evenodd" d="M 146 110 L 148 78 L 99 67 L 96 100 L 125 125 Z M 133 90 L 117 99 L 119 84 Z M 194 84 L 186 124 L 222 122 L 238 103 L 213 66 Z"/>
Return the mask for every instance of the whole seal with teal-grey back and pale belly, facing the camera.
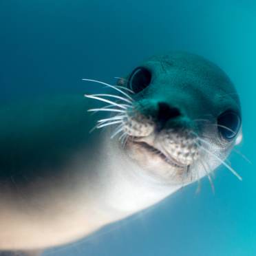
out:
<path id="1" fill-rule="evenodd" d="M 36 255 L 203 177 L 213 186 L 220 164 L 242 180 L 225 162 L 242 138 L 239 98 L 210 61 L 175 52 L 149 58 L 117 85 L 84 80 L 109 91 L 1 107 L 3 251 Z M 93 122 L 100 130 L 89 133 Z"/>

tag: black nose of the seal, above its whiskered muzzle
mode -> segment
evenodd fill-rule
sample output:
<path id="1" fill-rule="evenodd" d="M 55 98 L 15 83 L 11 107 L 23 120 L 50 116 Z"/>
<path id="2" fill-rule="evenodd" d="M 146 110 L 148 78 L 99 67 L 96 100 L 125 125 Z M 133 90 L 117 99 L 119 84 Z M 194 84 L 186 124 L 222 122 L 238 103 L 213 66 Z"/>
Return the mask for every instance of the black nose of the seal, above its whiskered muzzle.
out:
<path id="1" fill-rule="evenodd" d="M 171 107 L 164 102 L 158 103 L 158 129 L 162 129 L 170 119 L 178 118 L 179 116 L 181 116 L 181 113 L 177 107 Z"/>

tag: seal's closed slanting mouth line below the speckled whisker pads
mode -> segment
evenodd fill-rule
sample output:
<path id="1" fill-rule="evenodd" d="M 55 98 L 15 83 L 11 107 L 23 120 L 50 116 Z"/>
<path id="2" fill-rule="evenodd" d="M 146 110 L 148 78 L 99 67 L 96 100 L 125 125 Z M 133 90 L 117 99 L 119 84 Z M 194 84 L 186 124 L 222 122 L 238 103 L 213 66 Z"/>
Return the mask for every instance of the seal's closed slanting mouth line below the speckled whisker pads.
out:
<path id="1" fill-rule="evenodd" d="M 161 158 L 164 162 L 171 165 L 171 167 L 180 168 L 180 169 L 184 169 L 188 167 L 188 165 L 182 164 L 178 160 L 175 160 L 172 156 L 170 156 L 169 153 L 168 154 L 165 153 L 164 151 L 158 149 L 156 146 L 154 147 L 154 145 L 149 145 L 148 142 L 136 140 L 136 138 L 129 138 L 129 143 L 131 143 L 132 145 L 136 145 L 141 149 L 144 149 L 145 151 L 147 151 L 149 154 L 153 156 Z"/>

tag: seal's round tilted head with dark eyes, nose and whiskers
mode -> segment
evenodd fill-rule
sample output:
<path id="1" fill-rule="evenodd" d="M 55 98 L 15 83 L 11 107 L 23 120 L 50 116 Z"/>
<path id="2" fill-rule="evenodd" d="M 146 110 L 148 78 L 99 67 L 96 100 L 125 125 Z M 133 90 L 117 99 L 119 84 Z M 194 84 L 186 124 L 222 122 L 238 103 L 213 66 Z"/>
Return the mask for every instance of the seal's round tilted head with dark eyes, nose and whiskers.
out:
<path id="1" fill-rule="evenodd" d="M 107 122 L 142 171 L 184 185 L 224 164 L 240 179 L 224 162 L 241 134 L 239 98 L 219 67 L 182 52 L 153 56 L 118 85 L 120 113 Z"/>

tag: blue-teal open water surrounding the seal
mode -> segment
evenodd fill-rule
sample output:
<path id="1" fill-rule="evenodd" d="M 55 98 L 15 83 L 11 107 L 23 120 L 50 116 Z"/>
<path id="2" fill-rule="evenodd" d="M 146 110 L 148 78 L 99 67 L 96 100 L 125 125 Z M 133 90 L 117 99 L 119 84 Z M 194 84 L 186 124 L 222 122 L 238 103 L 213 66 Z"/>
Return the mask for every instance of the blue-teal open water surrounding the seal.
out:
<path id="1" fill-rule="evenodd" d="M 206 178 L 153 208 L 44 255 L 256 255 L 256 2 L 238 0 L 1 0 L 0 100 L 92 90 L 145 58 L 185 50 L 230 76 L 242 102 L 244 140 Z M 96 89 L 93 89 L 95 92 Z M 1 206 L 0 206 L 1 211 Z"/>

